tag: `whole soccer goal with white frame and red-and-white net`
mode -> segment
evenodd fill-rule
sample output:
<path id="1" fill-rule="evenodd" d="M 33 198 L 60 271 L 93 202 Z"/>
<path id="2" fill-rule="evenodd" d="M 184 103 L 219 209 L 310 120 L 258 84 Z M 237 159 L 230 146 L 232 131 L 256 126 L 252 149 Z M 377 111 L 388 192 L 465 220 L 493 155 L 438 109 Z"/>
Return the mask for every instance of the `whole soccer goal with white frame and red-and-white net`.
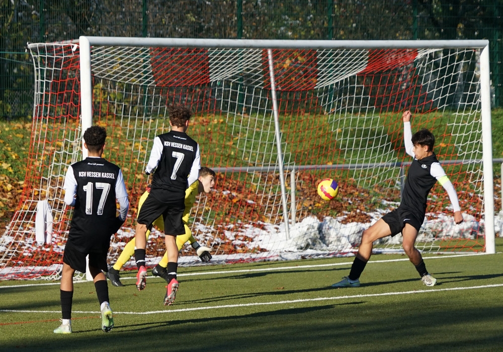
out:
<path id="1" fill-rule="evenodd" d="M 363 229 L 399 204 L 412 131 L 430 129 L 456 187 L 464 223 L 432 190 L 417 240 L 425 252 L 494 252 L 488 42 L 301 41 L 80 37 L 29 44 L 35 102 L 26 180 L 0 239 L 3 278 L 59 275 L 71 209 L 68 165 L 81 136 L 106 127 L 105 156 L 122 167 L 131 207 L 113 238 L 114 262 L 134 236 L 152 141 L 169 130 L 167 107 L 194 112 L 188 134 L 215 190 L 197 199 L 193 234 L 213 262 L 349 255 Z M 316 193 L 325 178 L 336 199 Z M 162 234 L 147 244 L 149 265 Z M 376 243 L 401 250 L 401 236 Z M 190 246 L 181 265 L 198 265 Z M 132 261 L 130 262 L 132 265 Z"/>

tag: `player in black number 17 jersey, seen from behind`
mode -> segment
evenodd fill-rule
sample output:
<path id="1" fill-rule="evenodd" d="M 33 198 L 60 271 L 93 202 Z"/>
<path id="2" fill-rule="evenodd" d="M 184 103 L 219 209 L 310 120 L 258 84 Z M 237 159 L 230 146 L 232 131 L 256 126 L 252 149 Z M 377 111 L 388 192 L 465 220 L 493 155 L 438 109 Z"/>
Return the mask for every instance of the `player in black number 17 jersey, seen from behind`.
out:
<path id="1" fill-rule="evenodd" d="M 105 160 L 103 150 L 107 131 L 92 126 L 83 135 L 84 147 L 89 156 L 68 167 L 64 179 L 64 201 L 74 207 L 68 240 L 63 252 L 63 270 L 60 284 L 61 325 L 55 333 L 71 333 L 71 305 L 73 275 L 75 270 L 86 272 L 89 255 L 89 272 L 93 277 L 100 303 L 103 331 L 114 327 L 112 309 L 105 274 L 110 237 L 126 220 L 129 201 L 124 178 L 119 166 Z M 117 217 L 116 200 L 120 204 Z"/>

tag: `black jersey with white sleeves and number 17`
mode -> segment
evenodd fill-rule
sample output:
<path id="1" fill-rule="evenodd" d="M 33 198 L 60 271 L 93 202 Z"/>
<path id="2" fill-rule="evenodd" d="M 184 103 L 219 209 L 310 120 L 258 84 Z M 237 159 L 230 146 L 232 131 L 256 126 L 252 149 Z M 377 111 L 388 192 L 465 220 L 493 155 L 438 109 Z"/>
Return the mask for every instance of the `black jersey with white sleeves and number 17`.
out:
<path id="1" fill-rule="evenodd" d="M 81 252 L 107 249 L 117 217 L 116 199 L 122 200 L 121 217 L 129 205 L 119 166 L 88 157 L 68 167 L 63 187 L 65 202 L 74 205 L 68 241 Z"/>

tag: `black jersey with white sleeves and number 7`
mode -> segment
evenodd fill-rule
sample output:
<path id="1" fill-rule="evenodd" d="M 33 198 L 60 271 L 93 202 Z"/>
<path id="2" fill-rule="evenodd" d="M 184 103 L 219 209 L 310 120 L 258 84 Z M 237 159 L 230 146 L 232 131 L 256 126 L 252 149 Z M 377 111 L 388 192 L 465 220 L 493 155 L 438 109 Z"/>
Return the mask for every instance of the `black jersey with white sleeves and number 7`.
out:
<path id="1" fill-rule="evenodd" d="M 197 180 L 200 168 L 198 143 L 185 132 L 170 131 L 155 137 L 145 171 L 155 169 L 152 190 L 183 193 L 183 198 L 185 190 Z"/>

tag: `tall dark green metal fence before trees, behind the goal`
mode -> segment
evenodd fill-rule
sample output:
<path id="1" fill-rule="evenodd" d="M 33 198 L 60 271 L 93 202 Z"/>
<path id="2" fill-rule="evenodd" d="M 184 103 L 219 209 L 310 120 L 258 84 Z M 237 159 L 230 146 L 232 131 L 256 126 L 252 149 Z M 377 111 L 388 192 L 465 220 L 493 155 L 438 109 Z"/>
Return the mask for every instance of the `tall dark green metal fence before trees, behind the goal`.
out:
<path id="1" fill-rule="evenodd" d="M 0 117 L 31 116 L 27 42 L 92 36 L 242 39 L 488 39 L 503 105 L 503 0 L 0 0 Z"/>

